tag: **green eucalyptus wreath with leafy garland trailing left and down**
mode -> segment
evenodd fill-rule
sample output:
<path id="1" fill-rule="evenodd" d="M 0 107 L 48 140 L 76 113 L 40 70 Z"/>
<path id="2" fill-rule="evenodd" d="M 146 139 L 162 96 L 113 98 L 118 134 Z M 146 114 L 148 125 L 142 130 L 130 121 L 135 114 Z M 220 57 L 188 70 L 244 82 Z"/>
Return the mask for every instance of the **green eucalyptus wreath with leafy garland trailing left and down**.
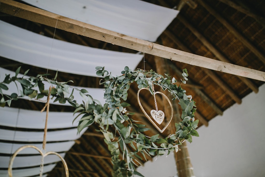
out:
<path id="1" fill-rule="evenodd" d="M 80 133 L 82 129 L 90 126 L 93 123 L 98 124 L 99 131 L 104 135 L 104 141 L 108 145 L 108 150 L 112 154 L 111 161 L 113 163 L 112 176 L 132 176 L 137 174 L 143 176 L 135 170 L 137 166 L 137 160 L 135 157 L 142 159 L 138 153 L 141 153 L 146 160 L 147 156 L 169 154 L 171 151 L 178 151 L 178 145 L 187 140 L 192 142 L 192 136 L 199 136 L 195 130 L 198 125 L 198 120 L 195 120 L 194 113 L 196 111 L 195 102 L 192 96 L 186 95 L 186 91 L 181 86 L 176 85 L 176 79 L 169 75 L 164 76 L 157 74 L 150 70 L 145 71 L 138 69 L 132 71 L 129 67 L 125 67 L 121 72 L 121 76 L 114 77 L 104 69 L 104 67 L 96 67 L 96 74 L 102 76 L 104 81 L 100 84 L 104 84 L 104 105 L 98 100 L 95 100 L 90 96 L 85 89 L 78 90 L 67 85 L 68 82 L 58 82 L 56 80 L 57 73 L 54 79 L 47 79 L 46 75 L 37 75 L 36 77 L 24 78 L 28 71 L 24 73 L 23 77 L 17 77 L 20 67 L 16 70 L 15 76 L 10 77 L 6 75 L 5 79 L 0 83 L 0 106 L 4 107 L 6 103 L 10 106 L 12 100 L 17 100 L 28 96 L 31 99 L 41 99 L 48 96 L 49 90 L 44 89 L 43 81 L 47 81 L 53 87 L 50 95 L 55 98 L 54 102 L 59 101 L 65 103 L 68 101 L 74 108 L 74 114 L 78 114 L 73 122 L 79 118 L 79 124 L 77 131 Z M 188 73 L 184 69 L 182 83 L 185 84 Z M 18 90 L 17 93 L 11 95 L 3 94 L 3 90 L 8 90 L 6 84 L 11 82 L 18 82 L 22 86 L 22 90 Z M 126 107 L 130 106 L 126 103 L 127 91 L 130 88 L 130 83 L 136 82 L 138 88 L 149 88 L 151 94 L 154 94 L 152 84 L 160 86 L 163 90 L 169 91 L 173 96 L 173 100 L 178 100 L 179 105 L 182 108 L 182 122 L 175 123 L 176 131 L 174 134 L 167 137 L 159 137 L 159 134 L 148 137 L 143 132 L 148 131 L 144 124 L 139 121 L 135 121 L 130 118 L 130 115 Z M 38 88 L 38 89 L 36 89 Z M 72 89 L 72 92 L 69 90 Z M 73 97 L 74 89 L 80 92 L 80 95 L 84 98 L 82 104 L 78 104 Z M 69 96 L 68 96 L 69 95 Z M 123 101 L 121 101 L 123 100 Z M 115 132 L 109 130 L 109 126 L 115 127 Z M 118 140 L 114 138 L 118 137 Z M 130 145 L 135 151 L 128 150 Z M 122 155 L 121 155 L 122 154 Z M 122 156 L 122 158 L 120 158 Z"/>

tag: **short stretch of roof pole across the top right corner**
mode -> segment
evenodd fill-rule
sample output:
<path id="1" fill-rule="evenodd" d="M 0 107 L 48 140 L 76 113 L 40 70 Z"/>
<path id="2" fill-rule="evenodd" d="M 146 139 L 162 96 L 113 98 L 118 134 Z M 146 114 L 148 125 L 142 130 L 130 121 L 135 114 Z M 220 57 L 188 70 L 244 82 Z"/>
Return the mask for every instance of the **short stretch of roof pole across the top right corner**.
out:
<path id="1" fill-rule="evenodd" d="M 230 1 L 230 0 L 219 0 L 225 4 L 227 4 L 230 7 L 233 7 L 234 9 L 254 18 L 259 24 L 261 24 L 263 26 L 263 28 L 265 28 L 265 18 L 261 15 L 258 15 L 254 10 L 248 8 L 248 6 L 240 6 L 237 3 L 235 3 L 234 1 Z M 240 2 L 240 1 L 237 1 Z M 243 2 L 240 2 L 240 4 Z"/>

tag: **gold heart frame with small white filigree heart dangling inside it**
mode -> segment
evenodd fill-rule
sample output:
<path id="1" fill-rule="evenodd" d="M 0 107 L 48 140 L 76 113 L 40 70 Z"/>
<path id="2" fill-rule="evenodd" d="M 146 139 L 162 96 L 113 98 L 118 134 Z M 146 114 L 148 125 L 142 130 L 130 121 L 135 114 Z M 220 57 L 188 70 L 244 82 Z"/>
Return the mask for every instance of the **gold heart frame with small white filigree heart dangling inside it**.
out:
<path id="1" fill-rule="evenodd" d="M 161 111 L 161 110 L 151 110 L 151 116 L 152 116 L 153 119 L 146 113 L 146 111 L 144 110 L 144 108 L 143 108 L 143 106 L 142 106 L 142 104 L 140 102 L 140 98 L 139 98 L 139 93 L 143 89 L 149 90 L 148 88 L 141 88 L 141 89 L 138 90 L 138 92 L 137 92 L 137 101 L 138 101 L 138 104 L 139 104 L 141 110 L 143 111 L 144 115 L 149 119 L 149 121 L 154 125 L 154 127 L 156 127 L 156 129 L 158 129 L 158 131 L 160 133 L 162 133 L 169 126 L 169 123 L 171 122 L 171 120 L 173 118 L 173 107 L 172 107 L 172 104 L 171 104 L 169 98 L 167 98 L 167 96 L 164 93 L 162 93 L 162 92 L 154 92 L 154 95 L 155 94 L 161 94 L 162 96 L 164 96 L 166 98 L 166 100 L 169 102 L 169 105 L 170 105 L 170 108 L 171 108 L 170 118 L 168 119 L 167 123 L 165 124 L 165 127 L 161 129 L 161 128 L 159 128 L 157 126 L 156 122 L 159 125 L 161 125 L 162 122 L 165 119 L 165 113 L 163 111 Z M 155 122 L 154 122 L 154 120 L 155 120 Z"/>

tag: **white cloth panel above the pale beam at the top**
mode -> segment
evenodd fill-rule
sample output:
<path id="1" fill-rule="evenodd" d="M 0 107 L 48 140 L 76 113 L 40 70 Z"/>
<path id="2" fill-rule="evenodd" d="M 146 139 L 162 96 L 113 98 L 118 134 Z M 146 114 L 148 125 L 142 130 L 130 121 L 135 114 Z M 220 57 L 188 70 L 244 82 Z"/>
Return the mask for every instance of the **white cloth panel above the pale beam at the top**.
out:
<path id="1" fill-rule="evenodd" d="M 23 0 L 71 19 L 154 42 L 178 10 L 140 0 Z"/>

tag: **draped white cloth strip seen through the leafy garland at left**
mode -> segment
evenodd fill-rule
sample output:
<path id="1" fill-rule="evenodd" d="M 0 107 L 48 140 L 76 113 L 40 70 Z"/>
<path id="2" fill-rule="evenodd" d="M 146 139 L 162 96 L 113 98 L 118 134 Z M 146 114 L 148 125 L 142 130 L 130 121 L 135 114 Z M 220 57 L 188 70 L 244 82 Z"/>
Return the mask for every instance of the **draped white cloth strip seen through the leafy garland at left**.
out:
<path id="1" fill-rule="evenodd" d="M 1 80 L 4 79 L 5 74 L 7 74 L 7 75 L 10 74 L 10 77 L 15 76 L 15 72 L 14 71 L 10 71 L 10 70 L 6 70 L 4 68 L 0 68 L 0 76 L 1 76 L 0 78 L 1 78 Z M 19 74 L 19 75 L 17 75 L 17 77 L 23 77 L 23 75 Z M 24 78 L 29 78 L 29 76 L 24 76 Z M 43 81 L 43 84 L 44 84 L 44 88 L 45 89 L 49 89 L 49 87 L 51 85 L 51 84 L 49 84 L 46 81 Z M 22 90 L 22 87 L 21 87 L 20 84 L 17 84 L 17 86 L 18 86 L 19 90 Z M 7 87 L 8 87 L 8 90 L 2 90 L 3 93 L 9 94 L 9 95 L 11 93 L 17 93 L 18 95 L 20 95 L 20 92 L 17 92 L 17 87 L 16 87 L 14 82 L 8 84 Z M 104 99 L 104 90 L 103 89 L 101 89 L 101 88 L 75 87 L 75 86 L 73 86 L 73 88 L 77 88 L 79 90 L 86 89 L 88 91 L 88 94 L 90 94 L 93 97 L 93 99 L 98 100 L 102 105 L 104 105 L 105 99 Z M 69 89 L 69 95 L 68 96 L 70 96 L 71 92 L 72 92 L 72 89 Z M 79 91 L 77 91 L 77 90 L 74 90 L 73 96 L 74 96 L 74 100 L 76 100 L 77 103 L 79 103 L 79 104 L 82 103 L 82 100 L 85 100 L 83 97 L 81 97 Z M 28 99 L 28 97 L 25 97 L 25 99 Z M 37 101 L 37 100 L 33 100 L 33 101 Z M 58 101 L 57 102 L 53 102 L 52 99 L 50 101 L 50 104 L 62 105 Z M 70 104 L 68 102 L 66 102 L 63 105 L 69 106 Z"/>

